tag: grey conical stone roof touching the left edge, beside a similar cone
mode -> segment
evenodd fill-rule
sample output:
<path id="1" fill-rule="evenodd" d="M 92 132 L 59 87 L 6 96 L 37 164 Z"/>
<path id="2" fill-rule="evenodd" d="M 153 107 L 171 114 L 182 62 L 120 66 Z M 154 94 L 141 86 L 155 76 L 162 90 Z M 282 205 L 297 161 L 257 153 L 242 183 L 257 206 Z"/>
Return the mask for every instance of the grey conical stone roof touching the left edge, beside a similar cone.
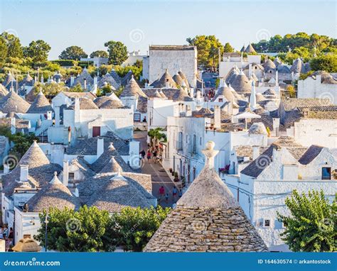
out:
<path id="1" fill-rule="evenodd" d="M 11 91 L 0 101 L 1 111 L 4 113 L 26 113 L 31 105 L 16 92 Z"/>

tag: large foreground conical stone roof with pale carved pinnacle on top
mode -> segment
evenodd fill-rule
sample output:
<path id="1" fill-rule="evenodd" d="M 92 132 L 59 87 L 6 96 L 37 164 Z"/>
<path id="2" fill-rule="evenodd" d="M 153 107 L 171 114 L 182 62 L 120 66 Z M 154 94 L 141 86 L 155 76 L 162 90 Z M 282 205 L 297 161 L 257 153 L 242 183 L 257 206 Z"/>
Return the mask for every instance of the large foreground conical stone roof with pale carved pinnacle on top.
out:
<path id="1" fill-rule="evenodd" d="M 267 251 L 262 238 L 214 169 L 214 143 L 203 153 L 205 167 L 144 251 Z"/>

